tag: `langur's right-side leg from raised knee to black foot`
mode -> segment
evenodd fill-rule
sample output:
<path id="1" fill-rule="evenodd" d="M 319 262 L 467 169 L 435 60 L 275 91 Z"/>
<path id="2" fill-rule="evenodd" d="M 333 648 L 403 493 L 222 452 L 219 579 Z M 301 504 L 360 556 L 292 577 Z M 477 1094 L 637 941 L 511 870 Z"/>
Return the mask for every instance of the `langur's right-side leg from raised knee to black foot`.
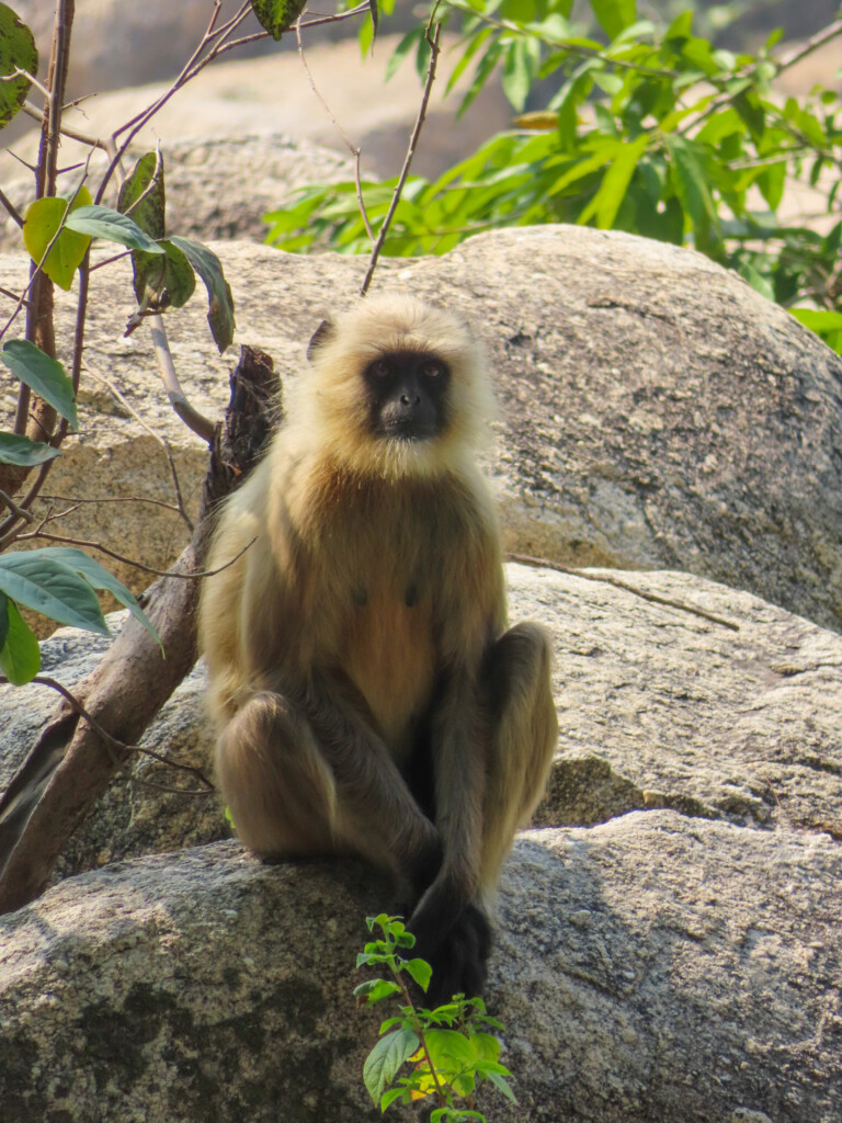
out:
<path id="1" fill-rule="evenodd" d="M 532 814 L 547 782 L 558 722 L 544 631 L 521 623 L 506 632 L 489 651 L 478 687 L 484 732 L 478 736 L 475 720 L 475 739 L 460 734 L 463 743 L 475 746 L 473 754 L 463 752 L 460 780 L 443 760 L 437 822 L 445 865 L 410 921 L 418 955 L 433 967 L 431 1002 L 445 1002 L 457 990 L 482 992 L 491 951 L 486 903 L 514 832 Z M 446 712 L 445 720 L 454 722 L 455 713 Z M 455 822 L 463 823 L 461 836 Z"/>

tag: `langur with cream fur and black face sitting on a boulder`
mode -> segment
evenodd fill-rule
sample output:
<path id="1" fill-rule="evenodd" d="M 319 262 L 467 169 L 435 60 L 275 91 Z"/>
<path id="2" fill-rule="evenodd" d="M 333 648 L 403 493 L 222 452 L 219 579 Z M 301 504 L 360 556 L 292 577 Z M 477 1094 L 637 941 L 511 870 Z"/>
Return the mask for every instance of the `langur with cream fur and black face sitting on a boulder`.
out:
<path id="1" fill-rule="evenodd" d="M 431 995 L 477 994 L 489 897 L 557 738 L 549 641 L 506 630 L 474 463 L 485 363 L 459 319 L 404 296 L 326 321 L 308 355 L 211 548 L 217 777 L 257 855 L 391 869 Z"/>

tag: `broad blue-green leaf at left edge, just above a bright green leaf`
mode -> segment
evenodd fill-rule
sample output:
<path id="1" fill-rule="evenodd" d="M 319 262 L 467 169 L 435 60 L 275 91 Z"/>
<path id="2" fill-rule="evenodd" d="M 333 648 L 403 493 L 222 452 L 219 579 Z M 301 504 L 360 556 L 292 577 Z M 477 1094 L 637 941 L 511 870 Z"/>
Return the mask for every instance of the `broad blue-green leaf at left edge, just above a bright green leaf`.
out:
<path id="1" fill-rule="evenodd" d="M 70 566 L 42 554 L 42 550 L 3 554 L 0 591 L 61 624 L 108 636 L 102 610 L 88 582 Z"/>

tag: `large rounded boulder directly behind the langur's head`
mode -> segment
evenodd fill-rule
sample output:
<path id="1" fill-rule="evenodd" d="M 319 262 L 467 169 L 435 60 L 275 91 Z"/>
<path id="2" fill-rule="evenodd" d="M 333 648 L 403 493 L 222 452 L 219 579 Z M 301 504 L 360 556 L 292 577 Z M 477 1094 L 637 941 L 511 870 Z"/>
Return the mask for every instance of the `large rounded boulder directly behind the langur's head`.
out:
<path id="1" fill-rule="evenodd" d="M 365 268 L 247 243 L 214 248 L 238 338 L 291 376 L 321 314 L 353 300 Z M 16 287 L 26 263 L 0 257 L 0 272 Z M 787 312 L 698 254 L 578 227 L 500 231 L 441 258 L 384 261 L 376 287 L 393 285 L 464 313 L 487 347 L 502 413 L 488 460 L 510 549 L 690 570 L 842 627 L 842 360 Z M 194 404 L 219 417 L 230 363 L 202 305 L 196 296 L 170 319 L 172 351 Z M 148 336 L 121 338 L 129 313 L 128 265 L 98 270 L 86 360 L 167 438 L 190 496 L 204 449 L 158 389 Z M 63 339 L 73 314 L 62 301 Z M 0 400 L 7 413 L 13 404 Z M 51 492 L 172 501 L 167 458 L 148 428 L 92 377 L 82 404 L 80 437 L 66 442 Z M 184 539 L 177 517 L 149 503 L 85 504 L 63 526 L 157 566 Z"/>

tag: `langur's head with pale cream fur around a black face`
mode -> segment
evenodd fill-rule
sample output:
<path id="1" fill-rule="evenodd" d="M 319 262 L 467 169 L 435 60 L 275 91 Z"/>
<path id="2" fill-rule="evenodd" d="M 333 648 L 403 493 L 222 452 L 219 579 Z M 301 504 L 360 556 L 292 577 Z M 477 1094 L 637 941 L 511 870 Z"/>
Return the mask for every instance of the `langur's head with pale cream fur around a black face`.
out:
<path id="1" fill-rule="evenodd" d="M 412 296 L 367 298 L 317 330 L 291 423 L 363 474 L 430 475 L 476 448 L 492 408 L 482 353 L 457 317 Z"/>

